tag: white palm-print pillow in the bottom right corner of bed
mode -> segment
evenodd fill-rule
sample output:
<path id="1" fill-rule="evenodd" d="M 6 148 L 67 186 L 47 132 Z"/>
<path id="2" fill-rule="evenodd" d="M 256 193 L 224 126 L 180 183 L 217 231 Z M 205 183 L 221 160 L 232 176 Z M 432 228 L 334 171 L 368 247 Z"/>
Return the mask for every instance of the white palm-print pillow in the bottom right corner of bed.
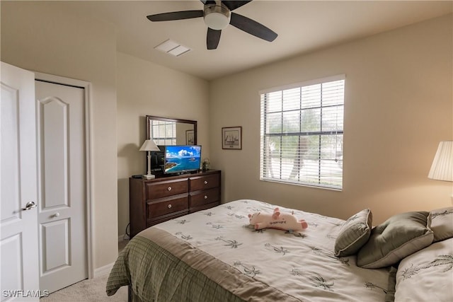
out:
<path id="1" fill-rule="evenodd" d="M 395 301 L 453 301 L 453 238 L 432 243 L 401 260 Z"/>

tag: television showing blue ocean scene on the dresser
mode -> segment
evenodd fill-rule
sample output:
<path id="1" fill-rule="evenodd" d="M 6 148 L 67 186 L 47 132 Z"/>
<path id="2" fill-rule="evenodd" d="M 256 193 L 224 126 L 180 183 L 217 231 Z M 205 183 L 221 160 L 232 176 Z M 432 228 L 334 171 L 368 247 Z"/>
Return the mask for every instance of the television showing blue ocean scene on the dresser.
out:
<path id="1" fill-rule="evenodd" d="M 165 146 L 164 173 L 185 173 L 200 169 L 201 146 Z"/>

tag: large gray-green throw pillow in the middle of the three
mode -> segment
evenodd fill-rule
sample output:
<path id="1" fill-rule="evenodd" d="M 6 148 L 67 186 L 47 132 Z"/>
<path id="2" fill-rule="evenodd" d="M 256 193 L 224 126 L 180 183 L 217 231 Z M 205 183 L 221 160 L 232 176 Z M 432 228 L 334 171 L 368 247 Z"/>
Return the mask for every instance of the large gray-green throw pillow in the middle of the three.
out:
<path id="1" fill-rule="evenodd" d="M 378 269 L 394 265 L 404 257 L 432 243 L 428 211 L 412 211 L 391 216 L 371 231 L 357 253 L 357 266 Z"/>

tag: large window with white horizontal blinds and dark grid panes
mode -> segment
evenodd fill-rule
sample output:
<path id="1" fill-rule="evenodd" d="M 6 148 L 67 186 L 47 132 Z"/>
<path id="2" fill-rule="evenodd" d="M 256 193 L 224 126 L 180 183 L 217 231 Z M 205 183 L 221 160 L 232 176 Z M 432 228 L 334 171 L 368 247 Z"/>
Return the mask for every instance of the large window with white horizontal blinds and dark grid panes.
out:
<path id="1" fill-rule="evenodd" d="M 345 76 L 261 95 L 260 180 L 342 189 Z"/>

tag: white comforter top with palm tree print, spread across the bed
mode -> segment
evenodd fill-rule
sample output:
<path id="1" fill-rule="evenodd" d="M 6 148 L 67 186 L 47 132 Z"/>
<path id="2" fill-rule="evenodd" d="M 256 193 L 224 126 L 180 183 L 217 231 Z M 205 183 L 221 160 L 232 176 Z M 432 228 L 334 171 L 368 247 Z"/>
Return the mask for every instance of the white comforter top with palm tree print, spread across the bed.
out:
<path id="1" fill-rule="evenodd" d="M 343 220 L 294 210 L 298 219 L 309 224 L 300 233 L 270 228 L 256 231 L 248 225 L 249 213 L 270 213 L 275 207 L 243 199 L 153 228 L 171 233 L 190 249 L 202 250 L 242 277 L 284 292 L 296 301 L 384 301 L 389 269 L 362 269 L 356 266 L 355 256 L 333 255 Z M 184 255 L 190 258 L 189 252 Z M 265 301 L 265 296 L 262 298 L 260 301 Z"/>

